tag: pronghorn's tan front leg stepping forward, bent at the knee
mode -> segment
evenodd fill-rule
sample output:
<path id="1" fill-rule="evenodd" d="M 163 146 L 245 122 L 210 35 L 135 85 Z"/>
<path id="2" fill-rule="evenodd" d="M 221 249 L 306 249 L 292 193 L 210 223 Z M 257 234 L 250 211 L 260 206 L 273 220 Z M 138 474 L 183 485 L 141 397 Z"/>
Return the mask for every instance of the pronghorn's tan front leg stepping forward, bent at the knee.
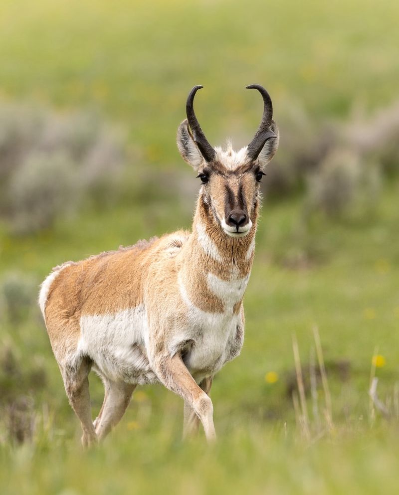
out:
<path id="1" fill-rule="evenodd" d="M 154 359 L 154 368 L 160 381 L 169 390 L 183 397 L 185 404 L 200 418 L 208 442 L 215 440 L 212 401 L 197 385 L 180 353 L 173 357 L 164 354 L 157 356 Z"/>

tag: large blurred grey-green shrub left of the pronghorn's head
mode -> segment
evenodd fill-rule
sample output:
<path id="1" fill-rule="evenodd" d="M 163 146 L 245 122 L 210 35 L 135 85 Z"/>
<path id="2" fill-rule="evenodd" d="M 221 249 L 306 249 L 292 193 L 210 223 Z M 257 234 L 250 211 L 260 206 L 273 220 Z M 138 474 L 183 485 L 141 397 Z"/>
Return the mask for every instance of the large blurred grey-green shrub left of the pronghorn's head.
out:
<path id="1" fill-rule="evenodd" d="M 13 232 L 114 195 L 123 161 L 120 134 L 95 113 L 0 104 L 0 216 Z"/>

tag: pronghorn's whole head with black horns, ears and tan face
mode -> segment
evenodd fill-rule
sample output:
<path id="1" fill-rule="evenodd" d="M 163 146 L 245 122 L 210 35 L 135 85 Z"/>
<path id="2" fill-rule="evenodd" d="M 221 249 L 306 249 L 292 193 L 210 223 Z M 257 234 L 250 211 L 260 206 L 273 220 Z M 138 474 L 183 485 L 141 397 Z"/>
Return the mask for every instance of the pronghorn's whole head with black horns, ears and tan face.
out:
<path id="1" fill-rule="evenodd" d="M 194 96 L 202 86 L 195 86 L 186 104 L 187 119 L 178 129 L 177 144 L 183 159 L 195 170 L 202 182 L 201 197 L 213 221 L 231 237 L 244 237 L 257 216 L 259 182 L 264 167 L 278 148 L 279 132 L 272 120 L 273 107 L 269 94 L 258 84 L 264 110 L 259 129 L 248 146 L 234 152 L 213 148 L 205 138 L 194 112 Z"/>

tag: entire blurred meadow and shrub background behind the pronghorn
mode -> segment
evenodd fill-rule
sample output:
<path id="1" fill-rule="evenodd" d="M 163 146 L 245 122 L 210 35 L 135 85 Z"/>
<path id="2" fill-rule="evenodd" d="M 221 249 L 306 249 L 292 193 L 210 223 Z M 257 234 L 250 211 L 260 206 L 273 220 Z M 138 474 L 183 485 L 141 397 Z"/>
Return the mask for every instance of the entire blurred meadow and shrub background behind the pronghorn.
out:
<path id="1" fill-rule="evenodd" d="M 369 432 L 380 420 L 368 397 L 375 374 L 389 416 L 399 415 L 398 16 L 393 0 L 1 1 L 0 449 L 3 474 L 26 475 L 7 493 L 84 493 L 103 463 L 126 467 L 113 493 L 131 489 L 131 470 L 147 493 L 151 472 L 157 493 L 171 465 L 185 463 L 175 493 L 192 489 L 193 477 L 198 493 L 213 493 L 215 479 L 239 493 L 248 480 L 235 466 L 247 464 L 256 471 L 252 493 L 285 493 L 298 488 L 295 477 L 303 493 L 330 493 L 318 476 L 324 470 L 324 482 L 339 483 L 337 459 L 357 460 L 359 493 L 375 487 L 378 470 L 358 456 L 360 437 L 338 454 L 323 451 L 319 469 L 309 461 L 306 478 L 295 464 L 295 435 L 319 438 L 332 424 Z M 182 450 L 183 404 L 160 386 L 137 391 L 107 449 L 86 457 L 83 469 L 38 285 L 64 261 L 190 228 L 199 183 L 176 148 L 187 94 L 204 86 L 196 112 L 207 139 L 231 138 L 239 149 L 262 115 L 259 94 L 244 89 L 252 83 L 269 91 L 281 140 L 263 180 L 244 348 L 212 388 L 221 437 L 213 471 L 202 476 L 203 447 L 186 447 L 188 457 Z M 307 419 L 295 407 L 293 334 Z M 96 414 L 95 376 L 91 387 Z M 287 435 L 294 454 L 284 450 Z M 384 442 L 373 451 L 381 476 L 392 461 Z M 63 470 L 48 471 L 49 453 Z M 266 483 L 262 466 L 270 462 L 275 477 Z M 108 493 L 107 484 L 96 490 Z"/>

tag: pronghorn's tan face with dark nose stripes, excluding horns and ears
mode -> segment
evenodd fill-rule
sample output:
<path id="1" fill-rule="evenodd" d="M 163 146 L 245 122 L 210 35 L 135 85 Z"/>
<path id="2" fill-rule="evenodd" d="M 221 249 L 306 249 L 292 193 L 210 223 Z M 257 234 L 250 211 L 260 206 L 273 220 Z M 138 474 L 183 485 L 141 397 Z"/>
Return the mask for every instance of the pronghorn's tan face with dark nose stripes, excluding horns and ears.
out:
<path id="1" fill-rule="evenodd" d="M 199 169 L 204 199 L 214 220 L 231 237 L 244 237 L 256 219 L 259 182 L 264 173 L 259 165 L 234 169 L 221 163 L 204 164 Z"/>

